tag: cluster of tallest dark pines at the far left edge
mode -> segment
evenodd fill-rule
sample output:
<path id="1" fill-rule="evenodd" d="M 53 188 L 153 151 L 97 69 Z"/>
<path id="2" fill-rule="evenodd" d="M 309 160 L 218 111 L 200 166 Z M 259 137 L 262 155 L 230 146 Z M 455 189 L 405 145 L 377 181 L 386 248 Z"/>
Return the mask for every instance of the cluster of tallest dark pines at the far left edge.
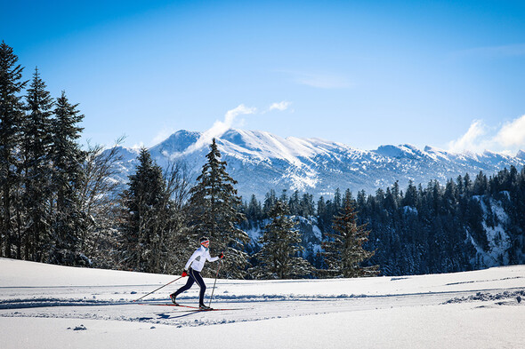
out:
<path id="1" fill-rule="evenodd" d="M 23 81 L 17 60 L 3 42 L 0 255 L 62 263 L 79 258 L 79 238 L 89 225 L 82 210 L 91 194 L 83 171 L 88 155 L 76 143 L 84 115 L 65 92 L 53 99 L 37 68 Z"/>

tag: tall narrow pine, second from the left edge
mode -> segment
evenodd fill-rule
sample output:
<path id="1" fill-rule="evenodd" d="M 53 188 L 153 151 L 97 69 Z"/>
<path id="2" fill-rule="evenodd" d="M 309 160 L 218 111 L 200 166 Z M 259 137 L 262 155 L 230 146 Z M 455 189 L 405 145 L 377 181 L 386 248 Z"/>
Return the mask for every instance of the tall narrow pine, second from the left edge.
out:
<path id="1" fill-rule="evenodd" d="M 23 140 L 23 207 L 27 220 L 25 256 L 42 262 L 47 258 L 51 242 L 51 147 L 53 101 L 38 68 L 28 88 L 26 109 L 28 114 L 22 127 Z"/>

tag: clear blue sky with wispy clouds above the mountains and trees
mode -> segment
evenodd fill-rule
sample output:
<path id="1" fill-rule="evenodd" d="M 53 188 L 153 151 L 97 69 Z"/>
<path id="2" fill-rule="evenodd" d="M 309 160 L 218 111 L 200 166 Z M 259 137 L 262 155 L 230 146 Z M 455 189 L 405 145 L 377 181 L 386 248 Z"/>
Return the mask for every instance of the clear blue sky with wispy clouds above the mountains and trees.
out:
<path id="1" fill-rule="evenodd" d="M 2 0 L 0 39 L 80 103 L 83 141 L 150 147 L 236 110 L 282 137 L 515 154 L 523 23 L 507 1 Z"/>

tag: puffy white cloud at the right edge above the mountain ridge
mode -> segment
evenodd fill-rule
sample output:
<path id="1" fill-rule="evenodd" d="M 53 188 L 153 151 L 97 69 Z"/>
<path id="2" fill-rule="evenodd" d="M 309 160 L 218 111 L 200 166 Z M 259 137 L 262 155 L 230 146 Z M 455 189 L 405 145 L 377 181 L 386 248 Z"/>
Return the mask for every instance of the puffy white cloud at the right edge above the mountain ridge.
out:
<path id="1" fill-rule="evenodd" d="M 474 120 L 463 136 L 448 143 L 448 150 L 455 153 L 491 150 L 515 155 L 520 149 L 525 149 L 525 115 L 492 129 L 481 120 Z"/>

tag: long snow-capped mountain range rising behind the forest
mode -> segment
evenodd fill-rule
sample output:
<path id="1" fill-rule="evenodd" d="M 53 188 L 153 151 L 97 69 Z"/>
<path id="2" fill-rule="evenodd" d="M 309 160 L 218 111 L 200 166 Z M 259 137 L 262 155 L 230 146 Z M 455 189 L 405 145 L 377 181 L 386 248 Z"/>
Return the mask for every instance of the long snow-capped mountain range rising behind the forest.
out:
<path id="1" fill-rule="evenodd" d="M 149 150 L 161 166 L 170 159 L 178 159 L 198 172 L 211 143 L 211 139 L 202 137 L 206 134 L 177 131 Z M 270 189 L 278 194 L 283 189 L 288 193 L 298 190 L 316 197 L 331 195 L 336 188 L 350 188 L 354 194 L 360 190 L 373 194 L 396 181 L 404 189 L 409 180 L 426 186 L 431 179 L 445 183 L 448 178 L 456 179 L 467 172 L 471 176 L 480 171 L 492 175 L 511 165 L 519 169 L 525 165 L 523 151 L 516 156 L 489 151 L 452 154 L 434 147 L 420 150 L 410 145 L 367 151 L 323 139 L 283 139 L 265 131 L 241 130 L 227 131 L 216 141 L 222 160 L 228 163 L 230 176 L 238 181 L 238 193 L 245 200 L 251 194 L 263 200 Z M 125 159 L 121 163 L 121 179 L 126 179 L 133 171 L 137 151 L 127 148 L 121 151 Z"/>

